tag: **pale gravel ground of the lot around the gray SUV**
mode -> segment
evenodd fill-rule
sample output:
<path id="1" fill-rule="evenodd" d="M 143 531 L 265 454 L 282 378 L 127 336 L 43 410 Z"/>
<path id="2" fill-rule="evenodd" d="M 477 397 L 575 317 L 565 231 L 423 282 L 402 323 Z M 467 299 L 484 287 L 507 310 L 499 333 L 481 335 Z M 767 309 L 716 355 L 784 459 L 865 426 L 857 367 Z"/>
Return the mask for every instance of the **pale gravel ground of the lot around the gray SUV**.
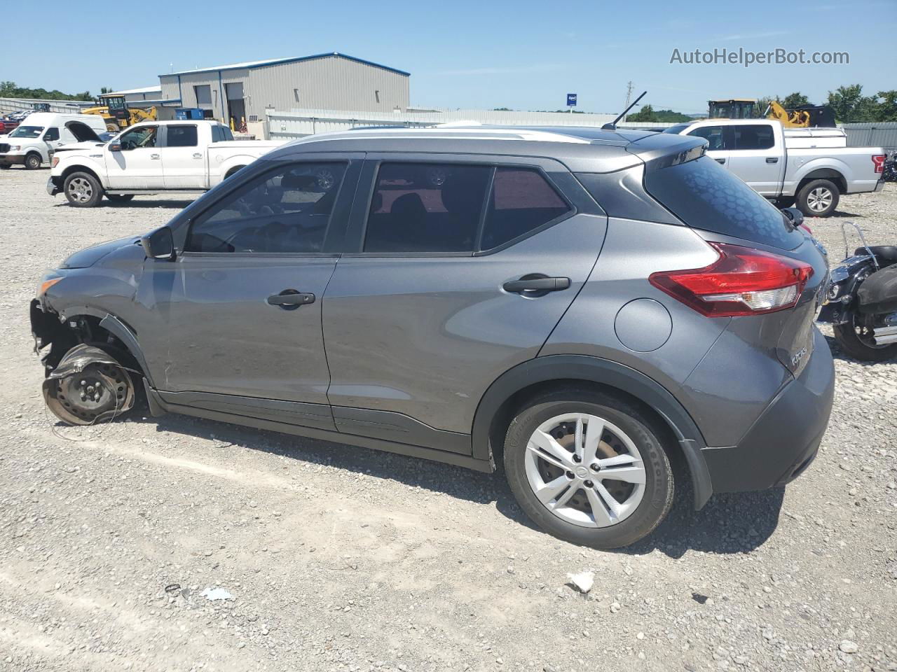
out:
<path id="1" fill-rule="evenodd" d="M 176 416 L 55 423 L 40 273 L 185 202 L 75 210 L 47 177 L 0 172 L 0 670 L 897 669 L 897 363 L 837 355 L 786 490 L 686 494 L 649 540 L 584 549 L 472 471 Z M 894 243 L 897 188 L 809 222 L 833 261 L 843 220 Z"/>

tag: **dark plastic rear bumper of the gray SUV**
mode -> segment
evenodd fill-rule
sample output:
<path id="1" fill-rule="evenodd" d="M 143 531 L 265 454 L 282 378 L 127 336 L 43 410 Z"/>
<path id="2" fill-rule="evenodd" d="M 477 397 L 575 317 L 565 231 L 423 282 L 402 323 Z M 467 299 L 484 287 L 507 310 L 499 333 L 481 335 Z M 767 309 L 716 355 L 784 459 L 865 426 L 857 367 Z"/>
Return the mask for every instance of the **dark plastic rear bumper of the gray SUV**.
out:
<path id="1" fill-rule="evenodd" d="M 797 380 L 785 385 L 736 446 L 701 451 L 713 492 L 784 486 L 813 461 L 834 397 L 832 352 L 814 328 L 814 349 Z"/>

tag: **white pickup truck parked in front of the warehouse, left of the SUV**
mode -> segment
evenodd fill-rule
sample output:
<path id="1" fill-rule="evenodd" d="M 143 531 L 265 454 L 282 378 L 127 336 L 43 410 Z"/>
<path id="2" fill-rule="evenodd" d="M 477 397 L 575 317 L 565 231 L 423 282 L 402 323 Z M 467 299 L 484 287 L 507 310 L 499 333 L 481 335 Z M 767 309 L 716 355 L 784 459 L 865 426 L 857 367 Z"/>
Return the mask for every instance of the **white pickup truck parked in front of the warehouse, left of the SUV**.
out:
<path id="1" fill-rule="evenodd" d="M 58 152 L 47 183 L 77 208 L 103 195 L 124 202 L 139 194 L 203 192 L 283 141 L 233 139 L 215 121 L 156 121 L 130 126 L 109 142 Z"/>

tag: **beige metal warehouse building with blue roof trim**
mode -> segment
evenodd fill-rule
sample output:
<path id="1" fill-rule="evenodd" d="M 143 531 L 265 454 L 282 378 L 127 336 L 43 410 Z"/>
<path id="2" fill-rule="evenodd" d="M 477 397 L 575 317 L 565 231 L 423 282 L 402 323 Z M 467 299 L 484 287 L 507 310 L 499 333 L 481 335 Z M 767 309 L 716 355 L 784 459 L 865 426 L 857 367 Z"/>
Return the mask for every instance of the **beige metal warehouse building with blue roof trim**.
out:
<path id="1" fill-rule="evenodd" d="M 336 52 L 219 65 L 159 75 L 161 98 L 239 124 L 265 108 L 392 112 L 408 107 L 408 77 L 386 65 Z"/>

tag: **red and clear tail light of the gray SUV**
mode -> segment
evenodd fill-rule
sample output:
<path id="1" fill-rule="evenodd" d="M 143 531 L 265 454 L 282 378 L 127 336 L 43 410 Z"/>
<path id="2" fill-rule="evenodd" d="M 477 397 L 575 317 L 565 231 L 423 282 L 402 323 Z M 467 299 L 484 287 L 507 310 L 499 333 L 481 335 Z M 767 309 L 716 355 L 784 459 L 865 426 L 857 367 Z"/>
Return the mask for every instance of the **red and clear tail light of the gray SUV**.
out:
<path id="1" fill-rule="evenodd" d="M 750 247 L 710 243 L 719 258 L 699 269 L 651 273 L 649 282 L 709 317 L 774 313 L 797 304 L 813 266 Z"/>

